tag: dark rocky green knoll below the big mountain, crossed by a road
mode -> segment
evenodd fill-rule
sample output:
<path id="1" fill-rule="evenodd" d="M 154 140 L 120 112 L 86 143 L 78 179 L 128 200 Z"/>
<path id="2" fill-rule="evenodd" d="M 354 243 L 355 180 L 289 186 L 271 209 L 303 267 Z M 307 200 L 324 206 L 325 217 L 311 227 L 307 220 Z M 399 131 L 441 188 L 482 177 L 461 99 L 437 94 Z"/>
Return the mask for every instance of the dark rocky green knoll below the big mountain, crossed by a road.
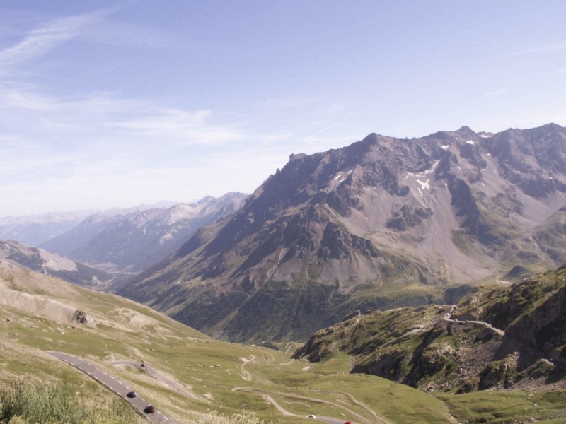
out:
<path id="1" fill-rule="evenodd" d="M 566 387 L 566 265 L 457 305 L 356 312 L 313 334 L 294 358 L 352 355 L 351 372 L 427 391 Z"/>

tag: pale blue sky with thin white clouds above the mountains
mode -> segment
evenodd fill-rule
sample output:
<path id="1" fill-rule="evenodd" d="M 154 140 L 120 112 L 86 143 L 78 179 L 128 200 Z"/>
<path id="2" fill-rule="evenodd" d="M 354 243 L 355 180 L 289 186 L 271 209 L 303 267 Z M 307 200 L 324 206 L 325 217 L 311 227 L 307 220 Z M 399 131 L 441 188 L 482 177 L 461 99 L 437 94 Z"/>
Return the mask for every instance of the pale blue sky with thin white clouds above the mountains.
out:
<path id="1" fill-rule="evenodd" d="M 252 193 L 375 132 L 566 125 L 566 1 L 0 0 L 0 216 Z"/>

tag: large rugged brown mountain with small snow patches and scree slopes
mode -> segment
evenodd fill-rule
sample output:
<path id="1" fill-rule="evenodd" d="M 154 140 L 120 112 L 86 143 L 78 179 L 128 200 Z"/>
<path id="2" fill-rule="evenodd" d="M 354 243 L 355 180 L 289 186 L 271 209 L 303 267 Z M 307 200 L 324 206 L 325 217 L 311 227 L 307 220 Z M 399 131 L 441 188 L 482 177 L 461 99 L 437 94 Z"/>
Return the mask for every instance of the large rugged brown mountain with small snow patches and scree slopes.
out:
<path id="1" fill-rule="evenodd" d="M 240 211 L 120 294 L 216 337 L 306 340 L 352 310 L 429 305 L 516 265 L 558 266 L 565 204 L 562 126 L 370 134 L 291 155 Z"/>

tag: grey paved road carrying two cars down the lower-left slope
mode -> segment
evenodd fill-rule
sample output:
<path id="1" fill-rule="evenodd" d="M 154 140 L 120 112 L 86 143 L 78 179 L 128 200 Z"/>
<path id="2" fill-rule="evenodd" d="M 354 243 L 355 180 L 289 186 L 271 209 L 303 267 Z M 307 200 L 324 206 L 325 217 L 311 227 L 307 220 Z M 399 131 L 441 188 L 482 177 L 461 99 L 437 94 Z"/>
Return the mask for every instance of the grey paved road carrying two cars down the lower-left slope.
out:
<path id="1" fill-rule="evenodd" d="M 108 374 L 107 372 L 100 370 L 100 368 L 95 367 L 91 363 L 86 362 L 86 360 L 82 360 L 81 358 L 77 358 L 76 356 L 69 355 L 68 353 L 62 352 L 47 352 L 50 355 L 54 356 L 55 358 L 59 358 L 60 360 L 68 363 L 69 365 L 74 366 L 76 369 L 81 370 L 89 377 L 92 377 L 97 382 L 102 384 L 107 389 L 113 391 L 115 394 L 122 396 L 129 404 L 131 404 L 137 411 L 139 411 L 141 416 L 144 416 L 147 420 L 149 420 L 152 424 L 178 424 L 177 421 L 173 420 L 173 418 L 169 418 L 164 416 L 161 412 L 155 410 L 154 413 L 145 413 L 144 408 L 149 405 L 147 401 L 137 395 L 137 397 L 129 398 L 127 397 L 127 393 L 129 391 L 134 391 L 132 387 L 129 387 L 126 383 L 121 382 L 119 379 L 113 377 L 112 375 Z"/>

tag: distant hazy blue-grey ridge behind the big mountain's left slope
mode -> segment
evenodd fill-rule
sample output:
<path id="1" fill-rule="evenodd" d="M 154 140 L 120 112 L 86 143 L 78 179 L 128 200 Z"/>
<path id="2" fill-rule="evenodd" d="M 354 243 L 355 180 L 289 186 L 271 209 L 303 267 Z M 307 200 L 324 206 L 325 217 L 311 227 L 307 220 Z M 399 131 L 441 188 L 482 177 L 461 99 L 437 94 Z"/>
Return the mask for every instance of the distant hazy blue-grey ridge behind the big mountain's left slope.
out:
<path id="1" fill-rule="evenodd" d="M 93 214 L 40 246 L 118 275 L 137 273 L 175 252 L 197 228 L 236 211 L 245 199 L 246 194 L 229 193 L 167 208 Z"/>

